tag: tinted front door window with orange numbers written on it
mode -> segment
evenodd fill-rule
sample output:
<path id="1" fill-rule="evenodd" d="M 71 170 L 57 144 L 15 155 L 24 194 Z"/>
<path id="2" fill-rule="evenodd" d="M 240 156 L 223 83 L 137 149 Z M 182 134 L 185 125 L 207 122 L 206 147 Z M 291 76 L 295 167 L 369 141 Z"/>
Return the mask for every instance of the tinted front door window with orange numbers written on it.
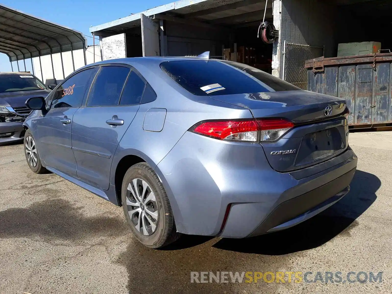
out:
<path id="1" fill-rule="evenodd" d="M 80 107 L 95 68 L 81 71 L 65 80 L 53 95 L 51 108 Z"/>

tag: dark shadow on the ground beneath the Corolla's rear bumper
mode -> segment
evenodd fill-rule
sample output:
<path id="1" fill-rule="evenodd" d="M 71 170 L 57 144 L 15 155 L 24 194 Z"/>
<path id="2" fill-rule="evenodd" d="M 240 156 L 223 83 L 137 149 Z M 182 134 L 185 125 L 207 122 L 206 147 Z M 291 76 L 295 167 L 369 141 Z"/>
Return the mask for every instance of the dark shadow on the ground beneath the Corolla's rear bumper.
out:
<path id="1" fill-rule="evenodd" d="M 338 234 L 349 235 L 350 230 L 358 225 L 358 216 L 376 200 L 381 181 L 374 174 L 357 170 L 350 186 L 350 192 L 338 203 L 299 225 L 253 238 L 222 239 L 214 247 L 244 253 L 281 255 L 319 247 Z M 290 240 L 290 246 L 287 240 Z"/>

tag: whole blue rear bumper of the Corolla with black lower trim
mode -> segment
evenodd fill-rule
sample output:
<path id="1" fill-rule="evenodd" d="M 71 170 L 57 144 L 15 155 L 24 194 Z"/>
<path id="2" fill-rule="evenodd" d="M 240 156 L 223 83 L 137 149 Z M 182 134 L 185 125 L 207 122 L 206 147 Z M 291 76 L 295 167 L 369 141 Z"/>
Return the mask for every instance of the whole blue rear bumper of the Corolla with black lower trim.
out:
<path id="1" fill-rule="evenodd" d="M 261 146 L 187 132 L 157 170 L 179 232 L 245 238 L 328 208 L 348 192 L 356 165 L 348 148 L 323 163 L 281 173 L 270 167 Z"/>

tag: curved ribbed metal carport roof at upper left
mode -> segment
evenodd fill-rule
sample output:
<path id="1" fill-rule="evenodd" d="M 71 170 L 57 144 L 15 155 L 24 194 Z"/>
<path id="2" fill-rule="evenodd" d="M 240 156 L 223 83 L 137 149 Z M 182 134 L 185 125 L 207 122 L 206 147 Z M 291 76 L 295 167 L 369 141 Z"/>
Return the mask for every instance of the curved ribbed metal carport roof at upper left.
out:
<path id="1" fill-rule="evenodd" d="M 82 33 L 0 5 L 0 52 L 10 62 L 86 48 Z"/>

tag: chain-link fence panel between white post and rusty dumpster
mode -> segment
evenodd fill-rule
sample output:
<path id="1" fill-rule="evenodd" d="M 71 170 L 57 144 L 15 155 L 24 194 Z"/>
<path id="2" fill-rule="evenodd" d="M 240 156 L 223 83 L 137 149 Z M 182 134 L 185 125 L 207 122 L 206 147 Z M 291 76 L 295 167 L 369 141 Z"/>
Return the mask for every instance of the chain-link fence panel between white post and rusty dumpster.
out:
<path id="1" fill-rule="evenodd" d="M 297 87 L 308 89 L 308 74 L 305 60 L 324 55 L 323 47 L 284 43 L 283 49 L 283 80 Z"/>

